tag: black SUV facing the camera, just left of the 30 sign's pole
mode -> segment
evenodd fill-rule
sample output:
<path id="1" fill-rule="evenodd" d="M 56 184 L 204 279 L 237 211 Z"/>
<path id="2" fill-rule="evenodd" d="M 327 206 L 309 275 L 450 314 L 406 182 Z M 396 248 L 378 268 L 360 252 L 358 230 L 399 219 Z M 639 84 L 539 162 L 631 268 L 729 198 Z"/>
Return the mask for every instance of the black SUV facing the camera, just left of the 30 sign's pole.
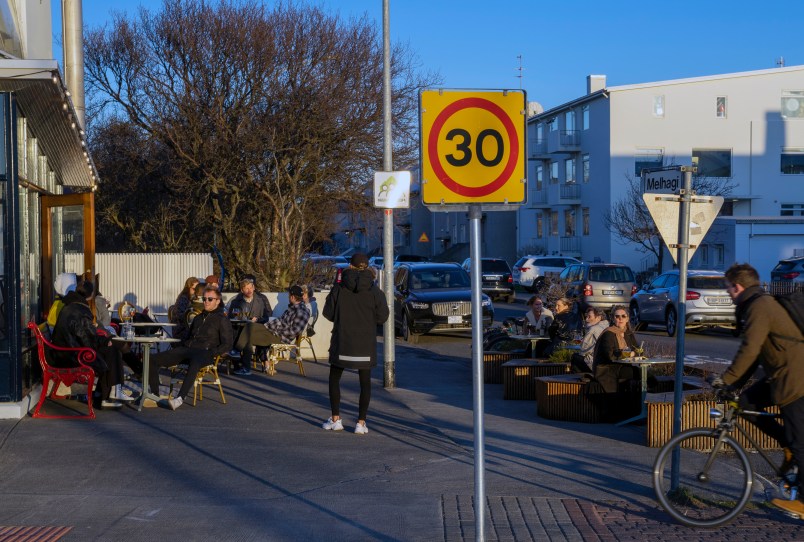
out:
<path id="1" fill-rule="evenodd" d="M 494 308 L 483 294 L 483 327 Z M 394 327 L 409 342 L 422 333 L 472 330 L 469 275 L 456 263 L 403 263 L 394 274 Z"/>

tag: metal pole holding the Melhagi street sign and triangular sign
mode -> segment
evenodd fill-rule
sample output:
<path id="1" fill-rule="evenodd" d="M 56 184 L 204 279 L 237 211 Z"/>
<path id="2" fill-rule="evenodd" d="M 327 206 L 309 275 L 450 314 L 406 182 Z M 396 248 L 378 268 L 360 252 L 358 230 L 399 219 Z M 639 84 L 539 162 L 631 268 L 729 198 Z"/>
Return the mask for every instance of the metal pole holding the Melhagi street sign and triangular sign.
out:
<path id="1" fill-rule="evenodd" d="M 687 256 L 690 241 L 690 205 L 692 202 L 692 168 L 682 167 L 684 188 L 681 190 L 681 207 L 678 213 L 678 318 L 676 320 L 676 375 L 673 393 L 673 435 L 681 432 L 681 391 L 684 386 L 684 337 L 687 322 Z M 670 488 L 678 488 L 681 449 L 673 450 L 673 464 L 670 469 Z"/>

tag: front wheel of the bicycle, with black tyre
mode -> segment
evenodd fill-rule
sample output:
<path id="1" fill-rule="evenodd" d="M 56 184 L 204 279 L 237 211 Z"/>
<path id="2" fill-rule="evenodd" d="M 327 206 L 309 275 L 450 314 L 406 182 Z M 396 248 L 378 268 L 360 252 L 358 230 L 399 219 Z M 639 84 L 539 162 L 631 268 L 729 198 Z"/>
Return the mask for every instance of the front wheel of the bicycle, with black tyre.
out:
<path id="1" fill-rule="evenodd" d="M 673 519 L 690 527 L 725 525 L 751 499 L 753 470 L 732 437 L 712 429 L 689 429 L 665 444 L 653 465 L 656 498 Z M 718 449 L 713 453 L 715 445 Z M 670 489 L 673 449 L 681 446 L 679 485 Z M 699 451 L 703 450 L 703 451 Z"/>

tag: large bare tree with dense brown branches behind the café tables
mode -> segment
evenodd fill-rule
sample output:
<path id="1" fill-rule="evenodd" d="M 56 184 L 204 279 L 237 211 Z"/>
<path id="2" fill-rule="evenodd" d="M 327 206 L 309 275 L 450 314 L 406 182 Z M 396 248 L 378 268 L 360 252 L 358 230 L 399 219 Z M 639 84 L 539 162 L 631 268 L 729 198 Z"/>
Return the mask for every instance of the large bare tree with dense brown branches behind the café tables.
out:
<path id="1" fill-rule="evenodd" d="M 158 151 L 139 156 L 162 186 L 131 210 L 141 226 L 123 231 L 133 244 L 215 241 L 230 272 L 274 288 L 297 280 L 301 255 L 329 238 L 339 210 L 370 209 L 367 183 L 382 166 L 380 38 L 365 17 L 254 0 L 165 0 L 159 13 L 143 9 L 88 32 L 94 118 L 129 124 L 138 149 Z M 417 148 L 418 89 L 437 83 L 412 59 L 394 48 L 400 163 Z M 127 177 L 119 165 L 113 172 L 115 184 Z M 130 220 L 120 208 L 103 210 L 105 225 Z M 151 232 L 170 235 L 161 246 L 137 241 L 158 238 Z"/>

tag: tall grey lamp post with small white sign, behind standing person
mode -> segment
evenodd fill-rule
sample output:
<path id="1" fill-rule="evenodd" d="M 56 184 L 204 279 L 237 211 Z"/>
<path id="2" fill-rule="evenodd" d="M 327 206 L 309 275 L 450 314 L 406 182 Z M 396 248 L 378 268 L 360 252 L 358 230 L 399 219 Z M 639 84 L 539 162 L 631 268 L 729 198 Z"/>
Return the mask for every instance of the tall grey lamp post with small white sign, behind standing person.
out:
<path id="1" fill-rule="evenodd" d="M 383 167 L 393 171 L 393 142 L 391 141 L 391 8 L 390 0 L 382 0 L 382 56 L 383 56 Z M 396 387 L 396 333 L 394 332 L 394 210 L 386 209 L 382 233 L 383 268 L 382 285 L 385 288 L 385 302 L 391 316 L 385 321 L 383 339 L 383 387 Z"/>

